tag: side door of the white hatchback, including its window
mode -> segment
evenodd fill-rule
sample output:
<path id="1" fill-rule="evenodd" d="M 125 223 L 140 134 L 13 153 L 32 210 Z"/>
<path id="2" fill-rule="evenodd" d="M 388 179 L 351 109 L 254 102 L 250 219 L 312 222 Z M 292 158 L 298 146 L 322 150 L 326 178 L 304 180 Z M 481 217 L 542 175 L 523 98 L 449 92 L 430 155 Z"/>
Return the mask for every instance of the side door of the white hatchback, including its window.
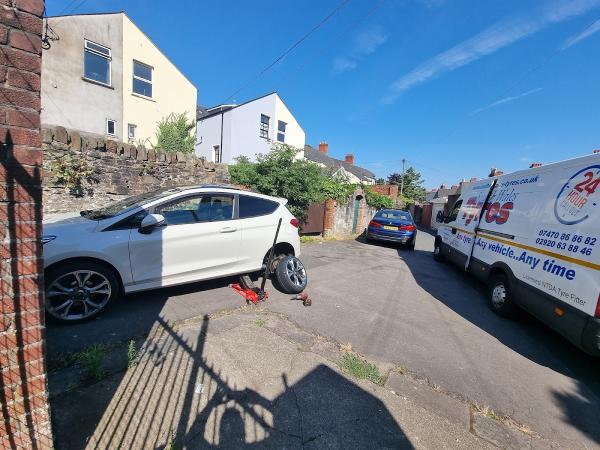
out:
<path id="1" fill-rule="evenodd" d="M 234 204 L 233 195 L 203 193 L 156 206 L 165 225 L 131 233 L 134 282 L 166 286 L 235 273 L 241 231 Z"/>

